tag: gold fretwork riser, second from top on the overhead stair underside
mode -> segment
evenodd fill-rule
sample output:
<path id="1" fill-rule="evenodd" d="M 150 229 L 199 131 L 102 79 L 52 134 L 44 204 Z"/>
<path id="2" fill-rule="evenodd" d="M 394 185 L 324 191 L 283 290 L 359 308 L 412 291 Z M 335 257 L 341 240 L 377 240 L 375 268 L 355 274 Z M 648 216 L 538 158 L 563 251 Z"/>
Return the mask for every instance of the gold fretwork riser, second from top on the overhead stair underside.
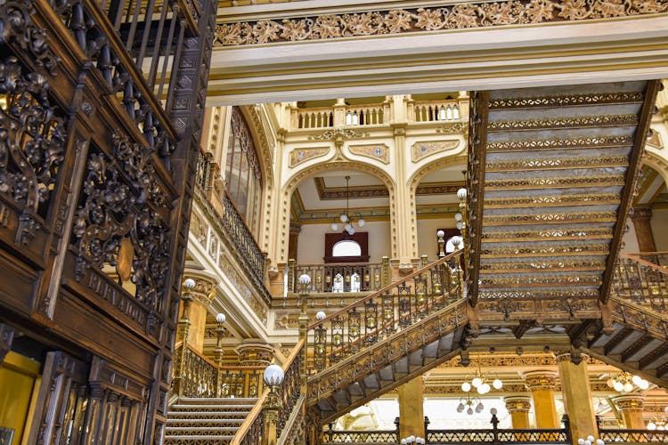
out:
<path id="1" fill-rule="evenodd" d="M 487 125 L 487 130 L 536 130 L 619 125 L 638 125 L 638 116 L 628 114 L 612 116 L 552 117 L 549 119 L 497 120 L 490 122 L 489 125 Z"/>

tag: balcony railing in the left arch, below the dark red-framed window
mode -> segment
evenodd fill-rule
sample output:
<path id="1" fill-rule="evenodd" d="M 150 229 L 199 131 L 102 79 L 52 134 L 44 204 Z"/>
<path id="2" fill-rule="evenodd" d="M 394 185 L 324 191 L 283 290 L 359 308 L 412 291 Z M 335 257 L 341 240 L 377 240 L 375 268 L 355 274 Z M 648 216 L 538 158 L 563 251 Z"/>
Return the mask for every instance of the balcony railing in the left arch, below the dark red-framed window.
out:
<path id="1" fill-rule="evenodd" d="M 295 292 L 302 274 L 311 277 L 310 293 L 369 292 L 389 284 L 389 263 L 295 264 L 289 261 L 289 292 Z"/>

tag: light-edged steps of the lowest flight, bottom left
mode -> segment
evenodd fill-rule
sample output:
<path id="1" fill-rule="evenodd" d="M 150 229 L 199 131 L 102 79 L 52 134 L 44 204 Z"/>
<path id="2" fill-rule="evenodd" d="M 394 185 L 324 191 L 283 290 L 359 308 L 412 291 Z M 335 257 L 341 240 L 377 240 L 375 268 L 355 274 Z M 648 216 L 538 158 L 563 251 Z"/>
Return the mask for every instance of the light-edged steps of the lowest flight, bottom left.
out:
<path id="1" fill-rule="evenodd" d="M 167 413 L 165 445 L 230 443 L 257 399 L 182 398 Z"/>

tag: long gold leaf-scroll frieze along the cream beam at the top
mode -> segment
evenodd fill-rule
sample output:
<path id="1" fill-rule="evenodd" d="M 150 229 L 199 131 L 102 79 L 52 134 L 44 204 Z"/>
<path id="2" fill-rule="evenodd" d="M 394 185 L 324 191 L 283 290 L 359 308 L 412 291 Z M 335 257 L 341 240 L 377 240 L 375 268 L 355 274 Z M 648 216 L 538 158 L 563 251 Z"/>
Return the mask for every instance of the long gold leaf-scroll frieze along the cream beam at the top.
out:
<path id="1" fill-rule="evenodd" d="M 309 17 L 253 20 L 216 25 L 214 46 L 271 44 L 354 36 L 385 36 L 461 28 L 535 25 L 564 20 L 600 20 L 665 12 L 662 0 L 530 0 L 469 1 L 439 8 L 379 9 L 369 12 L 325 13 Z"/>

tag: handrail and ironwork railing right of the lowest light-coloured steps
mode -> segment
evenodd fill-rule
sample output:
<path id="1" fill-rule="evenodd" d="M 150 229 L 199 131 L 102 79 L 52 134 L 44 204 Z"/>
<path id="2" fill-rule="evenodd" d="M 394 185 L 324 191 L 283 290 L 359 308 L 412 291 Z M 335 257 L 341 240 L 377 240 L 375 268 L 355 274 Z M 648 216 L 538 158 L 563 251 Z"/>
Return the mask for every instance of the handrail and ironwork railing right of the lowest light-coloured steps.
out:
<path id="1" fill-rule="evenodd" d="M 276 437 L 281 437 L 290 418 L 293 424 L 298 423 L 294 417 L 301 415 L 295 410 L 300 409 L 302 405 L 299 401 L 303 401 L 300 368 L 302 368 L 304 346 L 305 340 L 297 343 L 282 366 L 285 373 L 283 382 L 277 388 L 265 388 L 255 407 L 234 434 L 230 442 L 232 445 L 265 443 L 266 434 L 271 433 L 269 425 L 273 422 L 275 422 L 273 434 Z"/>

